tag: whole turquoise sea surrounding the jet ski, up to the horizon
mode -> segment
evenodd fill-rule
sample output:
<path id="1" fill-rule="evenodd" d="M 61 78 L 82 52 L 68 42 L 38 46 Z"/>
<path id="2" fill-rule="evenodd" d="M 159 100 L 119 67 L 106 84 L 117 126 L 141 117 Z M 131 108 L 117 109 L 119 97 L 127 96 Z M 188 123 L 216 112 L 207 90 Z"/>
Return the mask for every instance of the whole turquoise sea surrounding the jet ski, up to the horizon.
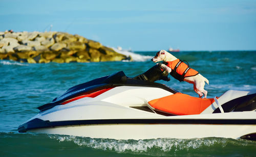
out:
<path id="1" fill-rule="evenodd" d="M 256 142 L 225 138 L 113 140 L 63 135 L 19 134 L 17 127 L 68 88 L 123 70 L 138 75 L 155 65 L 152 52 L 133 62 L 28 64 L 0 60 L 0 156 L 255 156 Z M 174 53 L 209 80 L 208 97 L 229 89 L 256 89 L 256 51 Z M 171 77 L 158 81 L 197 96 L 193 85 Z"/>

